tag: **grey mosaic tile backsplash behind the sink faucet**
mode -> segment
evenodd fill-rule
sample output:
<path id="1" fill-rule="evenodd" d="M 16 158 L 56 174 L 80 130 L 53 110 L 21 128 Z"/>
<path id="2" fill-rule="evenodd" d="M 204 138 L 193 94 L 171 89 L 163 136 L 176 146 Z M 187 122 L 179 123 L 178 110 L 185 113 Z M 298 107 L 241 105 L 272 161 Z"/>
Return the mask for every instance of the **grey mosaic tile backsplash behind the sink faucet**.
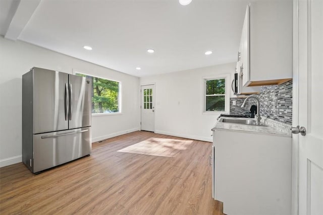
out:
<path id="1" fill-rule="evenodd" d="M 293 81 L 281 85 L 263 86 L 256 95 L 260 100 L 260 115 L 276 121 L 292 124 Z M 236 101 L 236 105 L 232 102 Z M 245 98 L 230 98 L 230 113 L 245 114 L 250 111 L 241 108 Z M 254 100 L 246 104 L 256 105 Z"/>

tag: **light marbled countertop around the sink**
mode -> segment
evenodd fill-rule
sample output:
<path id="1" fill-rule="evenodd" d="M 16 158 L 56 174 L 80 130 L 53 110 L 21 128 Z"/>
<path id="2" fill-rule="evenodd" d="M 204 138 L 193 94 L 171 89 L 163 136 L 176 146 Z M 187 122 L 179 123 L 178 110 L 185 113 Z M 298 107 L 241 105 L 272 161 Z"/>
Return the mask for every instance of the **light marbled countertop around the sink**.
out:
<path id="1" fill-rule="evenodd" d="M 222 118 L 232 118 L 232 117 L 222 117 Z M 240 119 L 244 119 L 244 118 L 240 118 Z M 250 119 L 250 118 L 246 118 L 246 119 Z M 265 117 L 263 117 L 261 122 L 268 126 L 245 125 L 245 124 L 235 124 L 235 123 L 217 121 L 211 130 L 214 131 L 217 129 L 225 129 L 225 130 L 232 130 L 232 131 L 238 131 L 238 132 L 264 133 L 264 134 L 292 137 L 292 133 L 290 131 L 292 126 L 289 124 L 278 122 Z"/>

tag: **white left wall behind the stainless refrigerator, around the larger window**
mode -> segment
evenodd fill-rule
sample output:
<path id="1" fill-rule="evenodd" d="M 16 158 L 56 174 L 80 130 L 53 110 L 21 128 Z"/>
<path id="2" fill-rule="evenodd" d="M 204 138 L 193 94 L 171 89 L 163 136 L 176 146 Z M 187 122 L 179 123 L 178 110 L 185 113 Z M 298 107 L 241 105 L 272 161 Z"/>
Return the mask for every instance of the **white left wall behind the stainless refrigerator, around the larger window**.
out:
<path id="1" fill-rule="evenodd" d="M 22 160 L 22 75 L 33 66 L 70 74 L 73 74 L 74 69 L 122 83 L 122 114 L 93 116 L 93 141 L 139 130 L 139 78 L 1 36 L 0 167 Z"/>

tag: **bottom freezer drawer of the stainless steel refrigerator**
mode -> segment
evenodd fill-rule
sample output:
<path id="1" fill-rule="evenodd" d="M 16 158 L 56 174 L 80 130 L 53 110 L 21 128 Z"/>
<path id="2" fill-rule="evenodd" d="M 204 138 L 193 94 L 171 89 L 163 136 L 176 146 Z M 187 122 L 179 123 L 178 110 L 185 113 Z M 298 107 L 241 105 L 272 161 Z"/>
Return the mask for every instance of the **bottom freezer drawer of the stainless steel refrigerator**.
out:
<path id="1" fill-rule="evenodd" d="M 33 135 L 33 172 L 89 155 L 91 127 Z"/>

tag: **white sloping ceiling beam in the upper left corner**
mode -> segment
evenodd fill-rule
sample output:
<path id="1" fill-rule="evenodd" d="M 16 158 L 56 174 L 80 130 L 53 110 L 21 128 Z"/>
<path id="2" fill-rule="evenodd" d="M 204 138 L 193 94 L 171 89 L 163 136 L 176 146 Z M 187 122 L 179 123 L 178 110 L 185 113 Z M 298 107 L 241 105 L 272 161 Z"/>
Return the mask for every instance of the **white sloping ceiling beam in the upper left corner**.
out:
<path id="1" fill-rule="evenodd" d="M 5 38 L 17 40 L 41 0 L 20 0 L 17 10 L 10 22 Z"/>

